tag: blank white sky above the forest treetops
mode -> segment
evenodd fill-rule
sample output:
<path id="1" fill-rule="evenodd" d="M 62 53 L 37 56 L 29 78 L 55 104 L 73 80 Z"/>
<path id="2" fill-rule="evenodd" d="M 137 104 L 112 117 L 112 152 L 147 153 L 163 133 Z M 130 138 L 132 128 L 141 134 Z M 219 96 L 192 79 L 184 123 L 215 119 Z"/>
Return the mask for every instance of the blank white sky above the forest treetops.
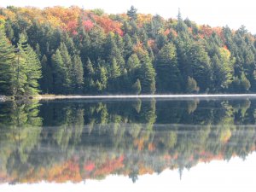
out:
<path id="1" fill-rule="evenodd" d="M 181 9 L 183 19 L 189 17 L 199 24 L 210 26 L 230 26 L 237 29 L 241 25 L 249 32 L 256 33 L 255 0 L 0 0 L 0 6 L 69 7 L 79 5 L 84 9 L 104 9 L 109 14 L 124 13 L 134 5 L 138 12 L 159 14 L 165 18 L 176 17 Z"/>

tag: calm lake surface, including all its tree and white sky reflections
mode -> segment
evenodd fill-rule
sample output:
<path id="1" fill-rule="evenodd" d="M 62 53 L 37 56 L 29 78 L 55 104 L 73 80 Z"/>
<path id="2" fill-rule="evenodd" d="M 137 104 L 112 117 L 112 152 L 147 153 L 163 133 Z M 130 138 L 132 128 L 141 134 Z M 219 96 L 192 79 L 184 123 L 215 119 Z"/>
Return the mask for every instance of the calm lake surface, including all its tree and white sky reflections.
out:
<path id="1" fill-rule="evenodd" d="M 0 190 L 254 191 L 256 99 L 0 102 Z"/>

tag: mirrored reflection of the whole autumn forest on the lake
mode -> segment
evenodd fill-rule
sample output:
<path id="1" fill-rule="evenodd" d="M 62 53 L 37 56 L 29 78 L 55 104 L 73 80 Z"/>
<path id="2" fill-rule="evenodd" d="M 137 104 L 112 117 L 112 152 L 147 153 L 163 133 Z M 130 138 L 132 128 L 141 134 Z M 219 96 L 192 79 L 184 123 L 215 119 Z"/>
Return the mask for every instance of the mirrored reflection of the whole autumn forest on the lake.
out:
<path id="1" fill-rule="evenodd" d="M 255 100 L 60 100 L 0 103 L 0 183 L 64 183 L 255 150 Z"/>

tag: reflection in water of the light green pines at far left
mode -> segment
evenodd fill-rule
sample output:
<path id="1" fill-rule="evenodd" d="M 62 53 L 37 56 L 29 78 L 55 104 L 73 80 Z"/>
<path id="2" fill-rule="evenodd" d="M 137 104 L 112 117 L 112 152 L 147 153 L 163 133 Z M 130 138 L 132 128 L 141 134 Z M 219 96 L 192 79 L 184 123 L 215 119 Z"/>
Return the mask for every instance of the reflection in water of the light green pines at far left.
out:
<path id="1" fill-rule="evenodd" d="M 1 172 L 23 177 L 23 166 L 40 143 L 42 119 L 38 102 L 12 102 L 1 106 Z M 21 175 L 20 175 L 21 173 Z M 16 178 L 15 178 L 16 179 Z"/>

